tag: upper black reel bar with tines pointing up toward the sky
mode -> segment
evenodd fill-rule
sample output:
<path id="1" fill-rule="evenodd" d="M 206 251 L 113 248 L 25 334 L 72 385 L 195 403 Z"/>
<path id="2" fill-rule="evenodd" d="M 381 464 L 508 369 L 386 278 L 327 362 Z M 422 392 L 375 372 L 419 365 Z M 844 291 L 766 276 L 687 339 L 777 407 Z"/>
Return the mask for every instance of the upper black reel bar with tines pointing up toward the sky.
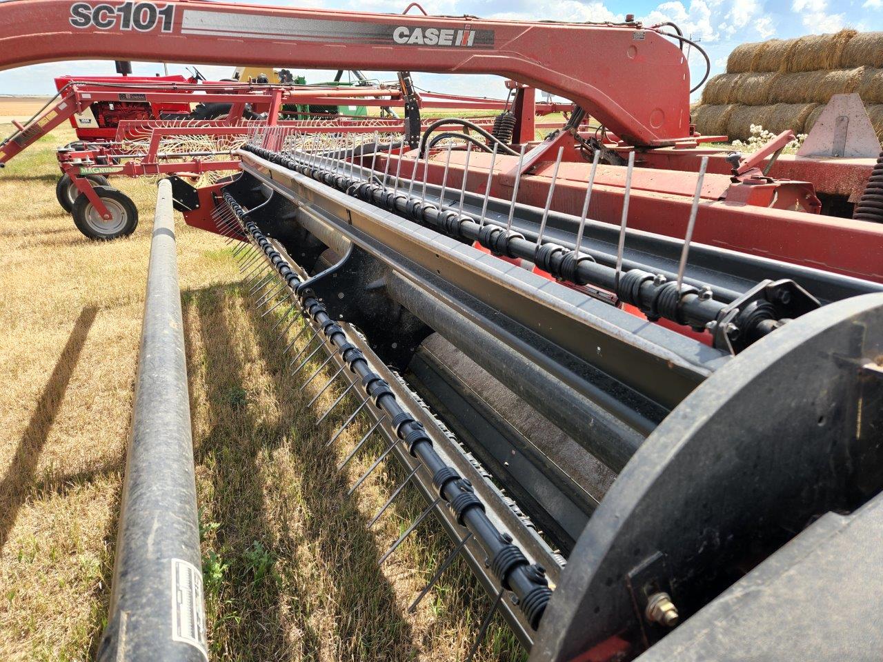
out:
<path id="1" fill-rule="evenodd" d="M 683 282 L 678 289 L 677 282 L 639 267 L 617 272 L 615 267 L 601 264 L 585 252 L 577 253 L 576 250 L 552 243 L 538 246 L 513 229 L 506 229 L 494 222 L 482 224 L 470 214 L 441 209 L 434 203 L 409 196 L 402 190 L 393 192 L 374 181 L 345 177 L 339 169 L 313 167 L 296 161 L 289 154 L 264 147 L 246 145 L 243 149 L 376 207 L 386 208 L 432 227 L 449 237 L 469 243 L 478 242 L 495 255 L 531 260 L 555 278 L 577 285 L 592 284 L 614 292 L 620 301 L 637 306 L 650 320 L 664 318 L 696 331 L 713 331 L 728 310 L 728 304 L 714 298 L 711 290 L 698 290 Z M 736 327 L 743 338 L 754 342 L 780 327 L 782 323 L 784 322 L 775 317 L 773 306 L 762 305 L 740 315 L 736 320 Z"/>

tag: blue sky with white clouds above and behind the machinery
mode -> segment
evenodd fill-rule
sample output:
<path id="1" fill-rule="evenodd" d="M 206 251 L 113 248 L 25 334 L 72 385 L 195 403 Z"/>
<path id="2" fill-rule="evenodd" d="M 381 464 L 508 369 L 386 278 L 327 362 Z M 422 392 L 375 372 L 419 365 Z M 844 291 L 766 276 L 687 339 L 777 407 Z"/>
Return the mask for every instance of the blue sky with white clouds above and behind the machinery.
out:
<path id="1" fill-rule="evenodd" d="M 262 0 L 240 4 L 275 4 L 342 11 L 381 11 L 400 13 L 408 0 Z M 835 32 L 842 27 L 857 30 L 883 30 L 883 0 L 421 0 L 430 14 L 471 14 L 487 19 L 622 21 L 633 13 L 653 25 L 671 20 L 683 33 L 706 49 L 712 63 L 712 75 L 724 71 L 729 52 L 743 41 L 787 39 L 803 34 Z M 208 79 L 229 78 L 230 67 L 202 66 Z M 296 63 L 278 63 L 294 71 Z M 705 72 L 705 61 L 695 51 L 690 57 L 694 81 Z M 162 73 L 162 64 L 133 63 L 133 72 L 152 76 Z M 185 65 L 169 64 L 170 73 L 185 72 Z M 112 75 L 112 62 L 81 60 L 36 64 L 0 71 L 0 94 L 54 94 L 56 75 Z M 328 79 L 328 71 L 307 72 L 309 82 Z M 381 80 L 395 79 L 389 72 L 366 72 Z M 450 76 L 414 74 L 419 87 L 439 92 L 458 92 L 479 96 L 505 96 L 503 79 L 491 76 Z M 699 92 L 694 94 L 698 96 Z"/>

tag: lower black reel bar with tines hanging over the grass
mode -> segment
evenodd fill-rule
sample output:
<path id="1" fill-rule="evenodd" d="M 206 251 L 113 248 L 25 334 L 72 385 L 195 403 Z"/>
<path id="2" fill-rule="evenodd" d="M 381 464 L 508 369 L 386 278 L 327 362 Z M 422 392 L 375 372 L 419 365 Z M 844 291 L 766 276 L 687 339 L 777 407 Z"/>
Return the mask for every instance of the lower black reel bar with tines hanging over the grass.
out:
<path id="1" fill-rule="evenodd" d="M 512 591 L 513 601 L 517 600 L 517 606 L 524 613 L 526 621 L 536 629 L 552 596 L 544 568 L 531 564 L 521 549 L 512 543 L 511 536 L 496 528 L 488 518 L 485 506 L 476 496 L 472 484 L 442 460 L 424 426 L 402 407 L 389 387 L 389 382 L 371 369 L 362 351 L 349 341 L 343 328 L 328 315 L 325 305 L 316 297 L 315 292 L 304 286 L 304 282 L 291 270 L 282 254 L 275 250 L 257 224 L 248 219 L 245 209 L 229 192 L 223 193 L 223 200 L 238 218 L 245 235 L 264 252 L 276 274 L 287 284 L 305 317 L 309 317 L 316 327 L 321 328 L 329 347 L 340 352 L 343 363 L 358 377 L 362 391 L 383 412 L 381 415 L 389 416 L 398 440 L 403 441 L 408 452 L 419 459 L 429 471 L 440 499 L 454 513 L 457 523 L 472 533 L 473 538 L 487 553 L 488 568 L 504 589 Z"/>

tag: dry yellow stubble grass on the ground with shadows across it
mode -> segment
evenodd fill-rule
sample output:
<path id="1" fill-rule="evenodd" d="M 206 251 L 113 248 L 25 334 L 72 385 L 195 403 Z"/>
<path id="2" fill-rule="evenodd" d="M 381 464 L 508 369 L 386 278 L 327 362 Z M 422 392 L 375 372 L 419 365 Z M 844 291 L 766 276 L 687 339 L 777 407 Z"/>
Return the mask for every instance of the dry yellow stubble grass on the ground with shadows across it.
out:
<path id="1" fill-rule="evenodd" d="M 138 203 L 140 227 L 88 242 L 54 197 L 52 148 L 70 135 L 50 135 L 0 172 L 4 660 L 91 658 L 107 617 L 155 188 L 117 183 Z M 325 448 L 351 404 L 316 425 L 306 403 L 327 375 L 301 393 L 273 316 L 260 319 L 238 286 L 230 248 L 178 228 L 211 657 L 462 659 L 489 600 L 473 596 L 457 561 L 406 613 L 449 543 L 424 524 L 377 568 L 424 504 L 406 493 L 367 528 L 401 472 L 392 463 L 347 496 L 376 451 L 337 474 L 364 422 Z M 318 406 L 336 395 L 328 389 Z M 522 657 L 499 624 L 479 654 Z"/>

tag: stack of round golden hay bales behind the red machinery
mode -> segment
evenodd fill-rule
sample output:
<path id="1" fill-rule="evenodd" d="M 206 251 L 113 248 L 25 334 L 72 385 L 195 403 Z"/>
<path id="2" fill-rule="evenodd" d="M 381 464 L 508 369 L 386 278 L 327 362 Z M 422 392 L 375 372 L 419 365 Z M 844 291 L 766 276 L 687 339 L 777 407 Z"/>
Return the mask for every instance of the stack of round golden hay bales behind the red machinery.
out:
<path id="1" fill-rule="evenodd" d="M 883 32 L 744 43 L 713 77 L 692 118 L 705 135 L 751 137 L 751 124 L 808 133 L 833 94 L 857 92 L 883 138 Z"/>

